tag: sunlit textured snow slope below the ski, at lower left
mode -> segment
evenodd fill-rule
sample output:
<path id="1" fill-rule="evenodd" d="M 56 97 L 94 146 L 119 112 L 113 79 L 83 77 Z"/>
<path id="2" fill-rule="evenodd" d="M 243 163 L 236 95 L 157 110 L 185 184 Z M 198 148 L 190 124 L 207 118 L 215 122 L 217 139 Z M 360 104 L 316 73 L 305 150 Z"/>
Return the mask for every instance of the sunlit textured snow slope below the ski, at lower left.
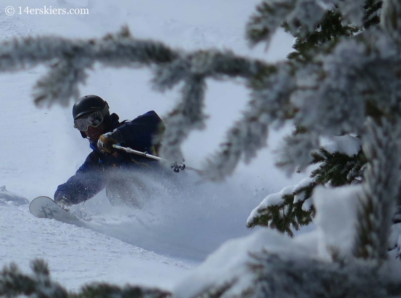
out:
<path id="1" fill-rule="evenodd" d="M 0 198 L 0 208 L 2 265 L 14 261 L 29 271 L 29 261 L 41 257 L 52 276 L 70 289 L 89 281 L 168 287 L 190 267 L 89 229 L 36 218 L 27 205 Z"/>

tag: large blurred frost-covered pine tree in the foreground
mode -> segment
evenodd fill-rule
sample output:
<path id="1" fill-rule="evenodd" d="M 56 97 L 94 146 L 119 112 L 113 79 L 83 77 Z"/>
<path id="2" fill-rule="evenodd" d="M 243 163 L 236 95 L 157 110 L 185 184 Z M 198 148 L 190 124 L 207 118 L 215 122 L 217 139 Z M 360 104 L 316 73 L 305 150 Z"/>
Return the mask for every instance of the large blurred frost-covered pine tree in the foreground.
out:
<path id="1" fill-rule="evenodd" d="M 269 43 L 275 30 L 284 23 L 289 32 L 304 38 L 315 32 L 331 4 L 337 7 L 345 23 L 363 26 L 364 0 L 263 0 L 258 6 L 257 21 L 254 18 L 248 25 L 250 43 Z M 226 271 L 210 283 L 205 281 L 210 274 L 202 272 L 202 277 L 191 279 L 190 286 L 184 285 L 186 294 L 181 296 L 228 297 L 233 293 L 240 297 L 399 296 L 401 285 L 399 278 L 394 278 L 399 276 L 388 276 L 390 271 L 383 273 L 384 264 L 389 264 L 387 244 L 401 177 L 399 19 L 399 0 L 383 0 L 380 26 L 369 26 L 352 38 L 339 36 L 336 42 L 323 45 L 324 49 L 316 55 L 309 55 L 306 62 L 293 59 L 267 63 L 215 49 L 184 52 L 159 42 L 134 39 L 124 28 L 101 39 L 51 36 L 0 42 L 0 71 L 48 65 L 49 73 L 36 85 L 35 102 L 49 105 L 67 104 L 77 98 L 78 84 L 85 82 L 86 71 L 95 62 L 113 67 L 150 67 L 154 73 L 152 84 L 157 90 L 182 85 L 181 100 L 166 119 L 162 151 L 166 159 L 176 161 L 182 157 L 180 144 L 188 133 L 205 125 L 206 79 L 242 78 L 251 89 L 251 99 L 219 150 L 205 162 L 203 174 L 212 180 L 230 175 L 239 161 L 250 161 L 266 145 L 272 125 L 279 127 L 291 121 L 303 129 L 303 133 L 287 137 L 281 150 L 280 163 L 289 173 L 307 168 L 313 160 L 311 153 L 319 150 L 322 138 L 354 133 L 360 138 L 367 159 L 364 180 L 352 191 L 349 186 L 335 188 L 335 193 L 342 191 L 338 199 L 345 194 L 359 197 L 352 255 L 346 255 L 337 264 L 299 252 L 299 243 L 289 242 L 282 234 L 270 230 L 254 233 L 252 246 L 235 243 L 231 254 L 242 252 L 249 257 L 248 249 L 261 244 L 272 244 L 270 249 L 278 245 L 279 254 L 260 249 L 260 253 L 254 254 L 251 266 L 236 261 L 222 266 L 218 260 L 226 255 L 227 250 L 223 250 L 207 262 L 216 260 L 216 266 Z M 321 190 L 316 192 L 325 194 Z M 317 199 L 315 194 L 312 198 Z M 317 214 L 330 216 L 323 210 L 319 213 L 319 209 Z M 347 228 L 354 231 L 353 226 Z M 264 237 L 272 238 L 263 242 Z M 296 247 L 291 253 L 282 253 L 292 246 Z M 335 255 L 333 260 L 338 259 Z M 231 275 L 232 268 L 237 268 L 239 274 Z M 21 289 L 30 283 L 25 283 L 24 276 L 15 279 L 12 276 L 4 279 L 3 292 L 18 286 L 19 293 L 25 293 Z M 42 280 L 34 281 L 34 285 L 39 282 Z M 193 287 L 199 291 L 189 295 Z M 86 295 L 94 296 L 97 294 L 93 292 Z"/>

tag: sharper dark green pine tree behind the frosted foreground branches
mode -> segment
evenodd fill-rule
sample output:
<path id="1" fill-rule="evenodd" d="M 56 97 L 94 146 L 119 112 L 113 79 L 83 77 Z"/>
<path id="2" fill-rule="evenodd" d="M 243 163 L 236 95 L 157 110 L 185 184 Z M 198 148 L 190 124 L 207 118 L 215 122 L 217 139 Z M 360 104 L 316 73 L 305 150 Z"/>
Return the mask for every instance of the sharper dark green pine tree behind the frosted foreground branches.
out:
<path id="1" fill-rule="evenodd" d="M 329 5 L 330 4 L 330 5 Z M 295 37 L 293 48 L 295 51 L 288 54 L 287 58 L 300 63 L 308 63 L 313 60 L 313 57 L 326 51 L 327 48 L 335 46 L 338 38 L 341 36 L 352 38 L 355 34 L 379 23 L 379 9 L 381 8 L 381 0 L 366 0 L 364 5 L 360 6 L 363 13 L 361 26 L 355 26 L 352 23 L 344 21 L 345 17 L 341 14 L 338 4 L 327 3 L 329 10 L 325 12 L 324 18 L 316 24 L 314 31 L 305 33 L 302 29 L 292 31 Z M 270 6 L 264 4 L 258 6 L 258 12 L 252 17 L 248 24 L 254 27 L 260 21 L 260 16 L 263 10 L 270 9 Z M 290 24 L 284 23 L 283 27 L 286 31 L 291 32 Z M 258 34 L 248 29 L 248 38 L 262 35 L 263 29 Z M 251 34 L 252 32 L 252 34 Z M 379 111 L 375 109 L 375 105 L 366 103 L 366 110 L 371 116 L 379 117 Z M 378 113 L 378 115 L 376 115 Z M 293 135 L 305 133 L 303 127 L 296 127 Z M 348 131 L 347 133 L 353 131 Z M 345 134 L 345 133 L 343 133 Z M 362 150 L 362 146 L 357 144 L 357 141 L 351 140 L 351 146 L 357 150 L 351 150 L 347 153 L 347 145 L 344 143 L 349 137 L 337 138 L 337 142 L 342 145 L 336 145 L 337 148 L 327 150 L 324 146 L 320 146 L 318 151 L 312 151 L 312 159 L 308 165 L 317 165 L 310 172 L 309 183 L 305 184 L 305 180 L 300 184 L 294 185 L 292 192 L 288 193 L 288 187 L 280 191 L 278 194 L 281 200 L 277 200 L 274 204 L 269 204 L 269 196 L 257 206 L 247 220 L 247 226 L 252 228 L 257 225 L 269 226 L 282 232 L 288 233 L 290 236 L 294 234 L 293 229 L 298 230 L 300 226 L 307 225 L 312 222 L 314 215 L 314 207 L 311 204 L 310 196 L 314 187 L 317 185 L 341 186 L 350 183 L 359 183 L 363 179 L 363 170 L 367 162 L 366 156 Z M 335 142 L 333 139 L 331 142 Z M 333 144 L 330 144 L 331 147 Z M 348 145 L 349 146 L 349 145 Z M 340 147 L 341 151 L 338 151 Z M 278 163 L 279 166 L 285 165 Z M 286 191 L 287 190 L 287 191 Z M 281 195 L 280 195 L 281 193 Z M 283 195 L 283 193 L 285 193 Z M 304 201 L 308 201 L 304 205 Z"/>

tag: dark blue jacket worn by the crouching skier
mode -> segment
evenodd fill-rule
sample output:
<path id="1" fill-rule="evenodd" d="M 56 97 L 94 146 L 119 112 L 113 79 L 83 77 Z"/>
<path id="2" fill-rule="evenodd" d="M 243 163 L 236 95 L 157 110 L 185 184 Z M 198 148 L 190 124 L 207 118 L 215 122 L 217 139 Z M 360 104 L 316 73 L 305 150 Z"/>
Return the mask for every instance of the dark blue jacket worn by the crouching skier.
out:
<path id="1" fill-rule="evenodd" d="M 113 113 L 112 127 L 110 131 L 117 128 L 121 132 L 123 141 L 119 144 L 138 151 L 147 151 L 157 155 L 157 147 L 165 126 L 161 118 L 153 110 L 140 115 L 132 121 L 118 121 L 118 115 Z M 159 162 L 140 155 L 118 151 L 117 154 L 101 153 L 96 142 L 90 141 L 92 152 L 85 162 L 70 177 L 67 182 L 59 185 L 54 194 L 57 201 L 62 196 L 71 203 L 78 204 L 85 201 L 99 191 L 107 187 L 111 181 L 116 180 L 116 170 L 154 168 L 162 170 Z M 122 186 L 123 187 L 123 186 Z"/>

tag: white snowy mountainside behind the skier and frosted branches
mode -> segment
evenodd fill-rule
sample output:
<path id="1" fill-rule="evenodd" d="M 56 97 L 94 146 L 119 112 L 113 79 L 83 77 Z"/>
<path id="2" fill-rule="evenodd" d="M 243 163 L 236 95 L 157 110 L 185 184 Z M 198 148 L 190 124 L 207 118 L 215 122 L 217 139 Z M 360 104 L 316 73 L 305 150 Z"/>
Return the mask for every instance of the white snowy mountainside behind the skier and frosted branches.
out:
<path id="1" fill-rule="evenodd" d="M 55 34 L 71 38 L 101 37 L 127 24 L 138 38 L 161 40 L 187 50 L 216 47 L 270 61 L 285 58 L 293 38 L 277 33 L 272 47 L 250 49 L 245 23 L 258 0 L 0 0 L 0 38 Z M 9 16 L 5 8 L 13 5 Z M 89 9 L 89 15 L 18 14 L 29 8 Z M 31 91 L 45 68 L 1 73 L 0 186 L 32 200 L 53 197 L 58 184 L 74 174 L 90 152 L 73 128 L 71 106 L 38 109 Z M 81 95 L 97 94 L 120 119 L 154 109 L 161 117 L 178 97 L 177 90 L 153 91 L 145 69 L 96 67 Z M 184 143 L 186 164 L 198 166 L 212 153 L 248 98 L 243 82 L 208 81 L 207 129 Z M 284 129 L 289 132 L 290 127 Z M 143 210 L 111 207 L 104 193 L 74 212 L 91 218 L 92 229 L 38 219 L 28 204 L 9 201 L 0 189 L 0 266 L 17 262 L 24 271 L 35 257 L 49 262 L 53 277 L 76 290 L 89 281 L 158 285 L 170 289 L 227 239 L 249 235 L 246 220 L 269 193 L 299 182 L 274 167 L 272 151 L 284 133 L 272 132 L 269 148 L 259 152 L 225 183 L 194 184 L 177 196 L 154 197 Z M 188 177 L 191 180 L 193 177 Z"/>

